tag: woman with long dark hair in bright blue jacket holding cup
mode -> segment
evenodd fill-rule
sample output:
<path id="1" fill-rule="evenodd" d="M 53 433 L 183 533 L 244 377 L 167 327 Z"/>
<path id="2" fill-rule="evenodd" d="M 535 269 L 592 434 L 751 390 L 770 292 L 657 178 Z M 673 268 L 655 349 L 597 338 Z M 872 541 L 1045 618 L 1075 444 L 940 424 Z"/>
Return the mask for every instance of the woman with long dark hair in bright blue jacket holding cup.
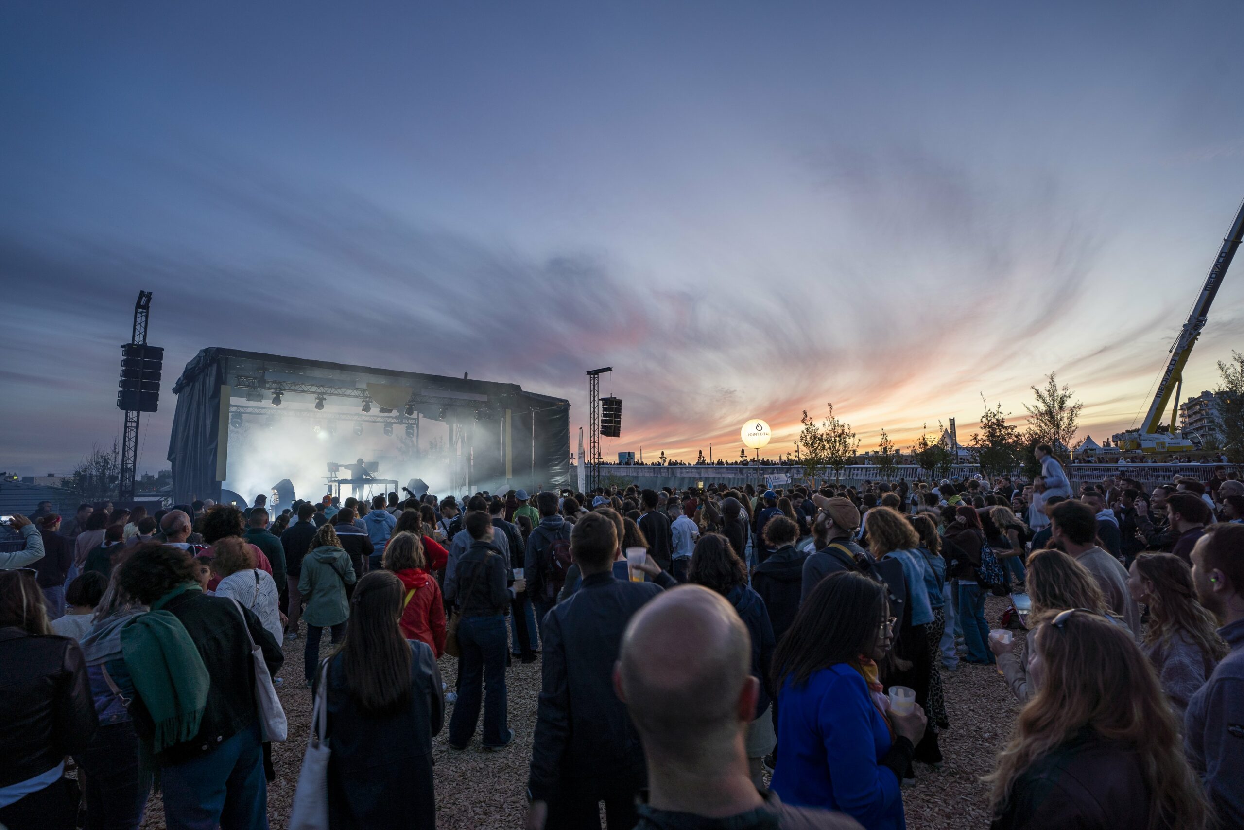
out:
<path id="1" fill-rule="evenodd" d="M 886 587 L 840 571 L 821 580 L 774 652 L 782 801 L 841 810 L 868 830 L 903 826 L 899 784 L 924 734 L 924 711 L 889 709 L 877 661 L 893 642 Z"/>

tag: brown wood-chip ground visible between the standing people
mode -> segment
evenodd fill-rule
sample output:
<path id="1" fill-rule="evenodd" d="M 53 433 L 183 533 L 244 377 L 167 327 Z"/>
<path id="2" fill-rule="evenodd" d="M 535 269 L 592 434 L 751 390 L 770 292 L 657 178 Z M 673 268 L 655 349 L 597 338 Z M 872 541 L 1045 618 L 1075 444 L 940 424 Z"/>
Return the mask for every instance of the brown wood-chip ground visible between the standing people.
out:
<path id="1" fill-rule="evenodd" d="M 985 616 L 998 626 L 1006 601 L 989 599 Z M 1015 648 L 1023 632 L 1015 632 Z M 327 653 L 327 637 L 323 652 Z M 453 688 L 457 661 L 440 660 L 443 679 Z M 311 719 L 311 692 L 302 682 L 302 641 L 285 643 L 285 666 L 280 689 L 281 703 L 290 722 L 290 740 L 274 747 L 276 780 L 269 785 L 267 813 L 271 826 L 284 829 L 297 783 L 302 750 Z M 907 825 L 913 830 L 959 830 L 986 828 L 988 786 L 980 776 L 993 769 L 994 758 L 1010 735 L 1019 704 L 991 666 L 960 663 L 954 672 L 943 672 L 945 706 L 950 728 L 942 733 L 945 763 L 940 770 L 916 765 L 917 780 L 903 789 Z M 494 830 L 521 828 L 526 815 L 527 763 L 531 732 L 535 725 L 536 696 L 540 691 L 540 663 L 522 666 L 518 660 L 506 672 L 510 727 L 515 740 L 500 752 L 480 749 L 479 734 L 464 752 L 445 743 L 445 728 L 433 739 L 435 762 L 437 816 L 443 830 Z M 401 794 L 394 794 L 401 798 Z M 163 828 L 164 813 L 159 796 L 148 803 L 143 828 Z"/>

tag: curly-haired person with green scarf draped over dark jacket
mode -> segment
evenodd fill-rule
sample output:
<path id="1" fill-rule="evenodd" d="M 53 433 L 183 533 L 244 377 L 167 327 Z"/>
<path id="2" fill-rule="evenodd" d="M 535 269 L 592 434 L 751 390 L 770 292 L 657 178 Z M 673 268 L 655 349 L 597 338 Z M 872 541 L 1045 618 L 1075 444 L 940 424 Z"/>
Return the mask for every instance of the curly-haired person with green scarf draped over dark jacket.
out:
<path id="1" fill-rule="evenodd" d="M 119 565 L 116 587 L 149 609 L 121 628 L 119 643 L 167 825 L 267 828 L 250 640 L 272 674 L 280 646 L 249 610 L 205 595 L 182 549 L 139 548 Z"/>

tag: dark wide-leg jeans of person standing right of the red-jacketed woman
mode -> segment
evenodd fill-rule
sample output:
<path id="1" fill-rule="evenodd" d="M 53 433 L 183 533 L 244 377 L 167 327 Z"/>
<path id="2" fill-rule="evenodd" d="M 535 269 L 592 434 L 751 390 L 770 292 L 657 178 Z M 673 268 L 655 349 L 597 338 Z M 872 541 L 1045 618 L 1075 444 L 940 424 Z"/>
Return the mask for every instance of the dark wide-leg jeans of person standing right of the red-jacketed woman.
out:
<path id="1" fill-rule="evenodd" d="M 463 617 L 458 623 L 458 702 L 449 719 L 449 743 L 465 747 L 475 734 L 484 699 L 484 745 L 506 742 L 505 617 Z"/>

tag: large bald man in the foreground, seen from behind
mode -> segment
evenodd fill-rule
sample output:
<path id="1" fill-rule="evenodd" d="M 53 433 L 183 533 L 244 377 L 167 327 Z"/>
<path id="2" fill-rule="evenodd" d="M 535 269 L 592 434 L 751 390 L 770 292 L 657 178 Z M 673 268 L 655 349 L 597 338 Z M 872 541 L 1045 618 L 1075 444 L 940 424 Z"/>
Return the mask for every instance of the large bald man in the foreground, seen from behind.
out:
<path id="1" fill-rule="evenodd" d="M 643 606 L 622 638 L 613 683 L 648 762 L 648 804 L 636 830 L 860 828 L 753 785 L 746 733 L 760 683 L 748 627 L 719 594 L 687 585 Z"/>

